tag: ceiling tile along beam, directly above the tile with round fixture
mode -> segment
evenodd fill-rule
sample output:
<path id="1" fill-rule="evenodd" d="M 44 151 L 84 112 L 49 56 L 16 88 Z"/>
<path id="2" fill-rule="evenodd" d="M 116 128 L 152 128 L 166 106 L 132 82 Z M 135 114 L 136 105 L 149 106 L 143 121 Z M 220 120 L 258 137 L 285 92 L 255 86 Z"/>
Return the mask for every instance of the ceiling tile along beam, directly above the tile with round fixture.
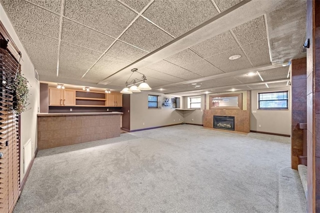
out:
<path id="1" fill-rule="evenodd" d="M 201 43 L 191 46 L 193 50 L 195 50 L 203 57 L 209 57 L 211 55 L 215 55 L 220 52 L 224 52 L 228 49 L 233 49 L 237 47 L 238 44 L 234 40 L 230 31 L 223 32 Z"/>

